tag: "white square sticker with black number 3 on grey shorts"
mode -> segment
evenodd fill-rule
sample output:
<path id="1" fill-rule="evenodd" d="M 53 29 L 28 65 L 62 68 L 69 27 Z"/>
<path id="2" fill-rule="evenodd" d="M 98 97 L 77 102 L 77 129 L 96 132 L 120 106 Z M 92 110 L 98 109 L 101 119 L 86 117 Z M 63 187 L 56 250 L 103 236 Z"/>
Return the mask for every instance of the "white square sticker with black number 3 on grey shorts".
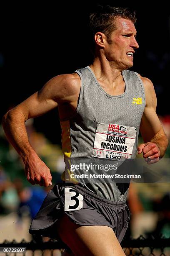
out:
<path id="1" fill-rule="evenodd" d="M 64 210 L 77 211 L 83 208 L 83 196 L 80 195 L 75 189 L 65 187 L 65 205 Z"/>

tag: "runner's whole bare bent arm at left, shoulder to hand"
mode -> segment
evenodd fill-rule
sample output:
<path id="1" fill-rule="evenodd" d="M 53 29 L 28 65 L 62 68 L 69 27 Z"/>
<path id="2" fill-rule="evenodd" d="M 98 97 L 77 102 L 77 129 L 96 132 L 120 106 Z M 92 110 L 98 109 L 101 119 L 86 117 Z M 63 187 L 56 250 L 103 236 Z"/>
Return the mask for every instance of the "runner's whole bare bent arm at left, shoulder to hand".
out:
<path id="1" fill-rule="evenodd" d="M 25 175 L 31 184 L 47 187 L 51 184 L 50 169 L 31 147 L 25 121 L 56 108 L 58 104 L 76 101 L 78 95 L 77 74 L 65 74 L 52 78 L 39 92 L 9 110 L 2 119 L 5 134 L 25 164 Z"/>

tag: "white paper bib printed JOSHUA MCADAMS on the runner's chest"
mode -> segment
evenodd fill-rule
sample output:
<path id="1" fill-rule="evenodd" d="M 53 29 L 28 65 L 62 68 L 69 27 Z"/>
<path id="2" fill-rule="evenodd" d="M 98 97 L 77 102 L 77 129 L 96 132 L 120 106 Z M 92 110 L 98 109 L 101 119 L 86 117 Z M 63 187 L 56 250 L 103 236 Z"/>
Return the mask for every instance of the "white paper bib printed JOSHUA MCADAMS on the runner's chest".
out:
<path id="1" fill-rule="evenodd" d="M 135 127 L 112 123 L 98 123 L 93 156 L 114 160 L 130 159 L 135 138 Z"/>

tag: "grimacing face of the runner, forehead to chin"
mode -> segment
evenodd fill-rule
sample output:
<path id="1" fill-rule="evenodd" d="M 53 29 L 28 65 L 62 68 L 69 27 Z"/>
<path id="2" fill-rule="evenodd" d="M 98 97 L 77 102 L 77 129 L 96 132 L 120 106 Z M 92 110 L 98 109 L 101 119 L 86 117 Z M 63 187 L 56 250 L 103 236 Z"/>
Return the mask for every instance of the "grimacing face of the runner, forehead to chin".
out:
<path id="1" fill-rule="evenodd" d="M 117 28 L 110 35 L 110 44 L 105 44 L 105 55 L 115 68 L 124 70 L 133 66 L 133 54 L 139 45 L 135 39 L 136 29 L 132 21 L 116 18 Z"/>

